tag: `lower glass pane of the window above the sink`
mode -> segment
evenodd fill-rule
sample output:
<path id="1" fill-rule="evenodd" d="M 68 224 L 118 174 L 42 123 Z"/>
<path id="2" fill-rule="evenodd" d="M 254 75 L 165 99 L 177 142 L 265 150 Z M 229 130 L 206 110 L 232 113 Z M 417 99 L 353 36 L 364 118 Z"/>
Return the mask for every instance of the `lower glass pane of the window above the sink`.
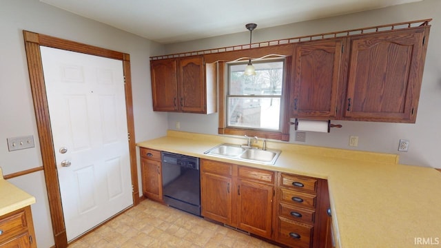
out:
<path id="1" fill-rule="evenodd" d="M 280 97 L 227 97 L 227 125 L 279 130 Z"/>

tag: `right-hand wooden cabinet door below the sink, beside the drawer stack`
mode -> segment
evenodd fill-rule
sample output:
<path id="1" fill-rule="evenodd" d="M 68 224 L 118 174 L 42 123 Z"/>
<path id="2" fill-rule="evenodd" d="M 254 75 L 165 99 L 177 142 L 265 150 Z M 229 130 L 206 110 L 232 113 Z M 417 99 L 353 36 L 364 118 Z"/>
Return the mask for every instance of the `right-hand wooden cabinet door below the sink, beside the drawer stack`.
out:
<path id="1" fill-rule="evenodd" d="M 271 238 L 274 187 L 238 179 L 238 228 Z"/>

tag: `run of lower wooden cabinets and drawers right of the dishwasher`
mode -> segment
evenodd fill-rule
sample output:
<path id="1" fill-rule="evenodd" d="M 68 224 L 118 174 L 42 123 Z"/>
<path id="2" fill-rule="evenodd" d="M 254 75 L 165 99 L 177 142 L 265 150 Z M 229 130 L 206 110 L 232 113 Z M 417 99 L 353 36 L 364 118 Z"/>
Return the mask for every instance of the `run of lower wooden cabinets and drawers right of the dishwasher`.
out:
<path id="1" fill-rule="evenodd" d="M 202 216 L 287 247 L 329 243 L 327 181 L 201 159 Z"/>

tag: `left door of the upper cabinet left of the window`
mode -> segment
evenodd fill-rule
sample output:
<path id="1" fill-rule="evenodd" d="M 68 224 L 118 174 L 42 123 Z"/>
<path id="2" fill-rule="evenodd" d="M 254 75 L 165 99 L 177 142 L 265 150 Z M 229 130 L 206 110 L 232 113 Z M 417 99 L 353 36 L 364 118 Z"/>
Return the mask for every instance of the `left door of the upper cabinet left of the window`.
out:
<path id="1" fill-rule="evenodd" d="M 150 61 L 154 111 L 177 111 L 176 59 Z"/>

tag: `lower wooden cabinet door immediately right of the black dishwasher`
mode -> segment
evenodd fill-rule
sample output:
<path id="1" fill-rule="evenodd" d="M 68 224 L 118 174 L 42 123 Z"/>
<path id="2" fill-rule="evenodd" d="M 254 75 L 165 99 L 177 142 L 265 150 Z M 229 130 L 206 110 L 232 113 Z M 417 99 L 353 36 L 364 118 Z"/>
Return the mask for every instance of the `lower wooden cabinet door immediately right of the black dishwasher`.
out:
<path id="1" fill-rule="evenodd" d="M 201 173 L 202 216 L 232 224 L 232 178 Z"/>

